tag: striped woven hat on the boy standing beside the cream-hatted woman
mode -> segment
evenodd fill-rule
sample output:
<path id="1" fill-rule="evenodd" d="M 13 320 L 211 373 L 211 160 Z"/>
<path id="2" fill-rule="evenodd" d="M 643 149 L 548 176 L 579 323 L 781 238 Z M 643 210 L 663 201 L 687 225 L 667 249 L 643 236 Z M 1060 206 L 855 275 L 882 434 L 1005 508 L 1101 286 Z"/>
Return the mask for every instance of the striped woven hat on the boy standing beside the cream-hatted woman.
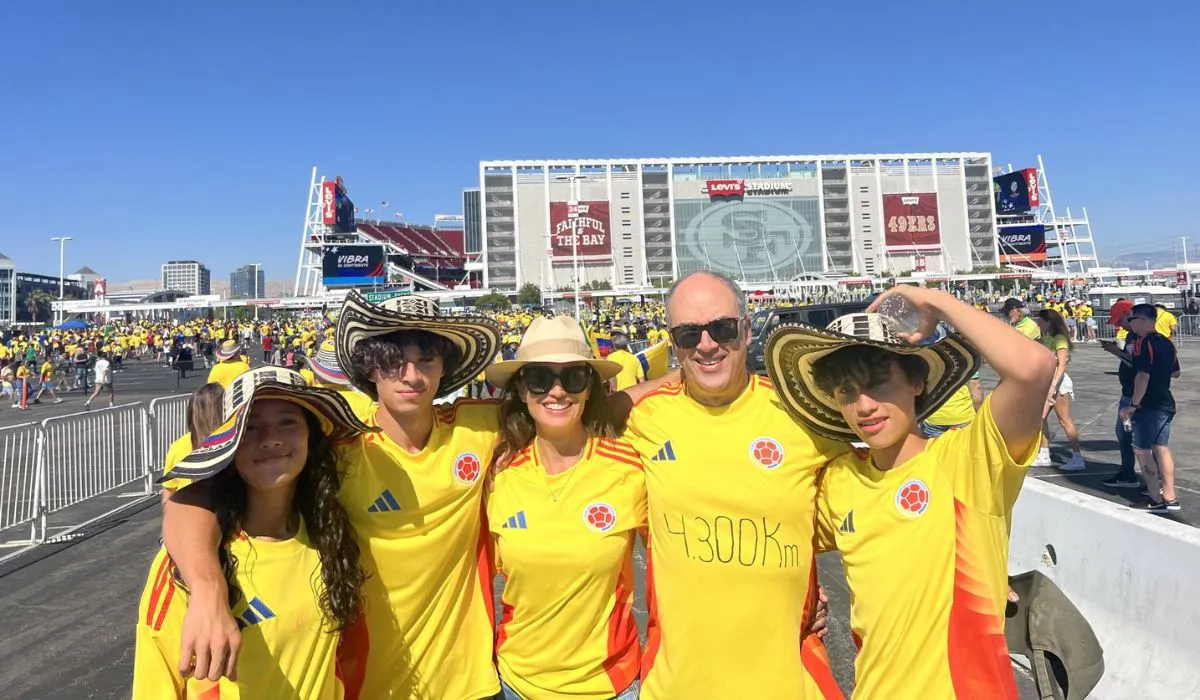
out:
<path id="1" fill-rule="evenodd" d="M 442 378 L 438 396 L 454 394 L 491 364 L 500 348 L 500 327 L 482 316 L 442 316 L 438 303 L 426 297 L 397 297 L 382 304 L 371 304 L 362 294 L 350 291 L 337 316 L 334 346 L 337 364 L 350 366 L 354 346 L 368 337 L 398 330 L 424 330 L 445 337 L 458 346 L 462 359 L 454 371 Z M 372 387 L 355 388 L 373 393 Z"/>

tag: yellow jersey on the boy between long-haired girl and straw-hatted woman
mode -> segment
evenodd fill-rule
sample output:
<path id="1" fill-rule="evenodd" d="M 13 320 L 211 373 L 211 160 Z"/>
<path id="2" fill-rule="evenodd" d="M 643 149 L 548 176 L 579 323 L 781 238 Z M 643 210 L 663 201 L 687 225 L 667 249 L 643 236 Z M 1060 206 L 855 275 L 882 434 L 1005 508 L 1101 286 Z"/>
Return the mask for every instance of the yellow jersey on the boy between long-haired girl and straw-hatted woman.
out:
<path id="1" fill-rule="evenodd" d="M 498 419 L 494 402 L 458 400 L 436 407 L 420 453 L 383 433 L 342 448 L 341 502 L 370 574 L 367 648 L 352 650 L 366 669 L 350 698 L 479 700 L 499 692 L 481 502 Z"/>

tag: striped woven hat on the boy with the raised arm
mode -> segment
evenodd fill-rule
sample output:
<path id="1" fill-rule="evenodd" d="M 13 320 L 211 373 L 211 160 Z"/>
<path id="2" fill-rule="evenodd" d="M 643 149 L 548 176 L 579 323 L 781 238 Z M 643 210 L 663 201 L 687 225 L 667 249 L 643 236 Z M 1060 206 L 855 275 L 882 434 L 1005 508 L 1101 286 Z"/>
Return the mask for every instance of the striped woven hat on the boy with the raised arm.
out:
<path id="1" fill-rule="evenodd" d="M 841 415 L 838 401 L 812 378 L 812 364 L 853 345 L 877 347 L 896 354 L 920 355 L 929 365 L 925 402 L 917 420 L 924 420 L 979 371 L 976 348 L 956 333 L 942 331 L 931 342 L 911 345 L 892 333 L 878 313 L 850 313 L 828 328 L 781 325 L 767 339 L 767 373 L 784 408 L 817 435 L 857 442 L 860 438 Z"/>

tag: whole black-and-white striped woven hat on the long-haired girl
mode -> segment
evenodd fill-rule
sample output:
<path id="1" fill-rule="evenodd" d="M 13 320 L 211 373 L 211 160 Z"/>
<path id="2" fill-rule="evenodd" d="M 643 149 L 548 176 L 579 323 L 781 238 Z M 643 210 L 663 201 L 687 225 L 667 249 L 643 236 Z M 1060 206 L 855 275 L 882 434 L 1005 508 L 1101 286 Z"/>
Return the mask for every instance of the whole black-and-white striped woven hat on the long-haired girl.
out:
<path id="1" fill-rule="evenodd" d="M 224 423 L 175 465 L 170 478 L 206 479 L 229 466 L 246 430 L 246 418 L 258 399 L 278 399 L 300 406 L 317 417 L 322 431 L 338 442 L 377 431 L 358 417 L 336 389 L 311 387 L 300 372 L 283 367 L 258 367 L 239 375 L 224 391 L 221 415 Z"/>

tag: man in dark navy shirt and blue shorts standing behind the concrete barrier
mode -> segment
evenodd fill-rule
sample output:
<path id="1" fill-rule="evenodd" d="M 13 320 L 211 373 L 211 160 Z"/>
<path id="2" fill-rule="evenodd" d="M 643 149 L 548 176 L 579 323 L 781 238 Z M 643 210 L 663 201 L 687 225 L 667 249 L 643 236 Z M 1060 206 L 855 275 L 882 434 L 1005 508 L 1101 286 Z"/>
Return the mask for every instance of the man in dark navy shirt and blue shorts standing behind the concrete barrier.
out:
<path id="1" fill-rule="evenodd" d="M 1122 420 L 1133 425 L 1133 451 L 1141 462 L 1150 492 L 1150 513 L 1180 510 L 1175 493 L 1175 460 L 1168 442 L 1175 419 L 1171 375 L 1176 371 L 1175 345 L 1154 330 L 1158 310 L 1150 304 L 1135 304 L 1129 310 L 1133 342 L 1133 396 L 1120 411 Z"/>

